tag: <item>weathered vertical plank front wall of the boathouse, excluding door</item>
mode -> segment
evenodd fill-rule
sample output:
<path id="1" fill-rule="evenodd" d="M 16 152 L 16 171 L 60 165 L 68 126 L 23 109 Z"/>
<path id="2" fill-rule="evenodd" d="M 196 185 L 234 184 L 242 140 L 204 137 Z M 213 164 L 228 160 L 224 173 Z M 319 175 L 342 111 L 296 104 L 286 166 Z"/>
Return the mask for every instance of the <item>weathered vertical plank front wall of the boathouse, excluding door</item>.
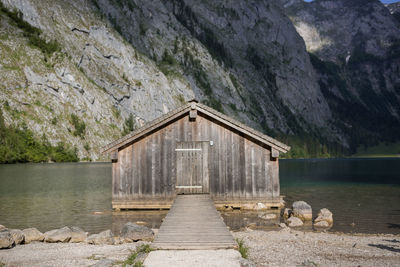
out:
<path id="1" fill-rule="evenodd" d="M 184 141 L 213 141 L 203 166 L 208 165 L 214 200 L 279 197 L 279 165 L 270 148 L 199 113 L 195 121 L 186 115 L 119 150 L 113 163 L 113 200 L 172 200 L 176 143 Z"/>

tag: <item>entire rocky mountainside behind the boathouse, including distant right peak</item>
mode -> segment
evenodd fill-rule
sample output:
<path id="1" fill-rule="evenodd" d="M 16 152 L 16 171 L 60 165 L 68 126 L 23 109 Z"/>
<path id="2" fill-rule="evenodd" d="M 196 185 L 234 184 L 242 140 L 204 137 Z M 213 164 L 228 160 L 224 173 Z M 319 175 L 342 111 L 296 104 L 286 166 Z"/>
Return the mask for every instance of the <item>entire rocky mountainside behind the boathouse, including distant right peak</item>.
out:
<path id="1" fill-rule="evenodd" d="M 0 1 L 41 30 L 45 47 L 54 40 L 58 47 L 41 48 L 0 12 L 6 122 L 25 122 L 53 144 L 70 143 L 81 158 L 99 159 L 129 116 L 140 126 L 194 97 L 268 134 L 344 146 L 353 140 L 354 120 L 342 107 L 398 122 L 399 61 L 390 54 L 397 51 L 398 28 L 377 1 L 343 1 L 345 8 L 322 0 L 284 1 L 285 8 L 272 0 Z M 340 15 L 342 9 L 354 14 Z M 382 26 L 389 17 L 392 26 Z M 353 60 L 360 53 L 384 60 Z M 361 90 L 355 83 L 365 77 Z M 77 120 L 86 125 L 83 133 Z"/>

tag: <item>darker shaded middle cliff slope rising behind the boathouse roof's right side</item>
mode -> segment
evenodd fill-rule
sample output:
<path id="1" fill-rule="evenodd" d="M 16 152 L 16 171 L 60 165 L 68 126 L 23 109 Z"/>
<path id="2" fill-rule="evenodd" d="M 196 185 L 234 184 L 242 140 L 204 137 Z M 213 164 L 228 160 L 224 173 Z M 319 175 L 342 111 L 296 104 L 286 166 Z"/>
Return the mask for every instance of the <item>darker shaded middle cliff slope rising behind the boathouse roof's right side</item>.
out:
<path id="1" fill-rule="evenodd" d="M 141 52 L 159 62 L 165 52 L 174 57 L 174 70 L 191 82 L 197 98 L 215 108 L 265 130 L 293 133 L 307 123 L 327 127 L 330 111 L 303 41 L 273 1 L 99 0 L 97 5 Z"/>

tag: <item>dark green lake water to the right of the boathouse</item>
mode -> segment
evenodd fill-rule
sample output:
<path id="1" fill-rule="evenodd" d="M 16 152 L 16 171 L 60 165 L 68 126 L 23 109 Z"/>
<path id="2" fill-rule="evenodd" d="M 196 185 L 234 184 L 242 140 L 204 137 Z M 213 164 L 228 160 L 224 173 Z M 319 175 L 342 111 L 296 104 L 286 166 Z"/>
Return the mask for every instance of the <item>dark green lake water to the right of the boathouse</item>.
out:
<path id="1" fill-rule="evenodd" d="M 304 200 L 316 216 L 333 213 L 331 231 L 400 234 L 400 159 L 280 162 L 286 205 Z"/>

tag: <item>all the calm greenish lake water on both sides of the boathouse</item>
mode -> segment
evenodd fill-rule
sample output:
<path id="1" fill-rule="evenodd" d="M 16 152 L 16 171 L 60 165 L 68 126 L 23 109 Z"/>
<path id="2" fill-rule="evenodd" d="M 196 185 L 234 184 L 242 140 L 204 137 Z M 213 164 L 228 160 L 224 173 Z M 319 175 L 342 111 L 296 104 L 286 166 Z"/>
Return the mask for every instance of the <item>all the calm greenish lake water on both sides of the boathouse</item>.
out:
<path id="1" fill-rule="evenodd" d="M 314 216 L 330 209 L 331 231 L 400 234 L 400 159 L 281 160 L 280 172 L 287 206 L 304 200 Z M 9 228 L 76 225 L 91 233 L 117 232 L 127 221 L 158 228 L 166 213 L 113 212 L 109 163 L 0 165 L 0 224 Z M 270 229 L 279 222 L 258 215 L 223 213 L 231 229 Z"/>

